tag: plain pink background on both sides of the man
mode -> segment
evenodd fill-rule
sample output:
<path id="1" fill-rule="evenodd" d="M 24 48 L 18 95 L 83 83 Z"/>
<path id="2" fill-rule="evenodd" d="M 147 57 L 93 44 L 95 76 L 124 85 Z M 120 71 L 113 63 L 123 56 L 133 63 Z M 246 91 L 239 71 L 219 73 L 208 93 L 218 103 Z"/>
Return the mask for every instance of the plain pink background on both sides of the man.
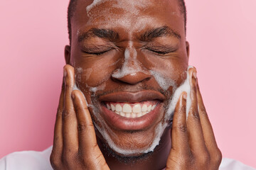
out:
<path id="1" fill-rule="evenodd" d="M 256 1 L 193 0 L 190 64 L 224 157 L 256 167 Z M 0 2 L 0 157 L 52 145 L 68 0 Z"/>

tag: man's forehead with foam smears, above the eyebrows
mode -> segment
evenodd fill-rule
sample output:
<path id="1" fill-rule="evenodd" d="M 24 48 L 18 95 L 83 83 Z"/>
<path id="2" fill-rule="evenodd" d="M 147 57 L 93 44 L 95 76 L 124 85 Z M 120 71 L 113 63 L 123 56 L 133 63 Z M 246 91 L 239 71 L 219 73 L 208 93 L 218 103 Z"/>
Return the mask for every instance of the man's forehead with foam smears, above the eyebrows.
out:
<path id="1" fill-rule="evenodd" d="M 132 34 L 159 26 L 182 32 L 183 14 L 177 0 L 78 0 L 71 23 L 73 33 L 96 27 Z"/>

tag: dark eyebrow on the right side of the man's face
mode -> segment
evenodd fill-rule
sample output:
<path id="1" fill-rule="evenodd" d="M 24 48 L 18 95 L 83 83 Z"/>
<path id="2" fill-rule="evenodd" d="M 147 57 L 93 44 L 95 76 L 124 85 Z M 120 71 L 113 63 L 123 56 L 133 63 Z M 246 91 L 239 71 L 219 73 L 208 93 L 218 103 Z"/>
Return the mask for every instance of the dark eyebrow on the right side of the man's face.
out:
<path id="1" fill-rule="evenodd" d="M 151 30 L 146 30 L 145 33 L 143 33 L 140 36 L 140 40 L 142 41 L 151 41 L 154 38 L 159 38 L 163 36 L 173 36 L 174 38 L 177 38 L 178 40 L 181 40 L 181 35 L 177 33 L 172 28 L 169 28 L 168 26 L 162 26 L 159 28 L 153 28 Z"/>

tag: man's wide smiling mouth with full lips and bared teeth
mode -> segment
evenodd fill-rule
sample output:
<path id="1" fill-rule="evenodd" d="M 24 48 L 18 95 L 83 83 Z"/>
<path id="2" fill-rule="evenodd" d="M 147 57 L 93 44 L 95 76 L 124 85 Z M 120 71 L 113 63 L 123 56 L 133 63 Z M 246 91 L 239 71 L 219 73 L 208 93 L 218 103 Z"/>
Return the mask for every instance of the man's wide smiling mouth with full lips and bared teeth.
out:
<path id="1" fill-rule="evenodd" d="M 99 97 L 102 118 L 117 130 L 145 130 L 163 117 L 165 96 L 158 91 L 115 92 Z"/>

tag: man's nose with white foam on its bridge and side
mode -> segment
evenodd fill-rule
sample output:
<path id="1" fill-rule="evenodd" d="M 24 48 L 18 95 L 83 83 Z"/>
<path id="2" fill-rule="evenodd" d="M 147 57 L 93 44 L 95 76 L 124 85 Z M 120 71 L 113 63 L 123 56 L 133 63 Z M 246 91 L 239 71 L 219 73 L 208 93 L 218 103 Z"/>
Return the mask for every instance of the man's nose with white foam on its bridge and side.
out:
<path id="1" fill-rule="evenodd" d="M 124 51 L 124 62 L 120 69 L 112 74 L 114 81 L 121 81 L 126 84 L 138 84 L 139 82 L 149 80 L 151 74 L 141 62 L 137 60 L 137 51 L 132 45 Z"/>

